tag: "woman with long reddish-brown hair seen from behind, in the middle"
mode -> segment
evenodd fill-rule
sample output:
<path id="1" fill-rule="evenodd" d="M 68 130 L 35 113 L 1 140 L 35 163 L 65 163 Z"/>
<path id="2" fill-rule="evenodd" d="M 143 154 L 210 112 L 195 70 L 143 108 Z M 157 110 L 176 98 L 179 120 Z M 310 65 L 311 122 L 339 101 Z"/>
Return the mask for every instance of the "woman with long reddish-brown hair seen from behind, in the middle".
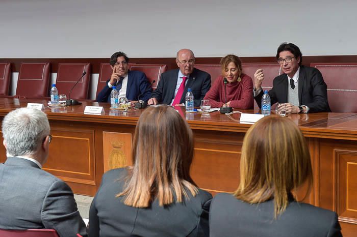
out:
<path id="1" fill-rule="evenodd" d="M 145 109 L 135 129 L 133 167 L 103 175 L 89 236 L 209 236 L 212 195 L 190 176 L 193 135 L 172 107 Z"/>

